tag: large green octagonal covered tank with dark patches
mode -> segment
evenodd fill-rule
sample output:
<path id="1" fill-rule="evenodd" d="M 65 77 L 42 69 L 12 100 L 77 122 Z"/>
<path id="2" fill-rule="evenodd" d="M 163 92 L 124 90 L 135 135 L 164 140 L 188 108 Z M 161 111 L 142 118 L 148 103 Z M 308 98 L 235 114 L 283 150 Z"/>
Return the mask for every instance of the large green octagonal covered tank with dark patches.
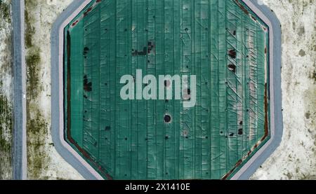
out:
<path id="1" fill-rule="evenodd" d="M 103 179 L 230 179 L 270 140 L 270 28 L 244 1 L 84 2 L 59 129 Z"/>

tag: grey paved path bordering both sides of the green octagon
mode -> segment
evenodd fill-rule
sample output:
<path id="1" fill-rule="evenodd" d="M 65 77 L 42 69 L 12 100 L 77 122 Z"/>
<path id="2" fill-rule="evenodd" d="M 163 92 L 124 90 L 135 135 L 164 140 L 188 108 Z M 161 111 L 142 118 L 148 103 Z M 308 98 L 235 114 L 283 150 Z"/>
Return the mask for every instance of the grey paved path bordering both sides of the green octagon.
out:
<path id="1" fill-rule="evenodd" d="M 51 56 L 52 56 L 52 134 L 55 147 L 67 162 L 76 168 L 86 179 L 100 179 L 100 175 L 82 158 L 78 158 L 72 148 L 70 148 L 63 139 L 63 114 L 62 111 L 62 74 L 60 74 L 59 65 L 62 63 L 62 58 L 58 49 L 62 49 L 63 35 L 60 34 L 62 22 L 74 15 L 74 11 L 90 0 L 74 1 L 67 10 L 60 15 L 54 23 L 51 34 Z M 258 151 L 242 169 L 232 177 L 232 179 L 249 179 L 256 172 L 256 169 L 275 151 L 282 139 L 283 120 L 282 120 L 282 91 L 281 91 L 281 28 L 279 20 L 267 6 L 261 6 L 257 0 L 244 0 L 244 2 L 256 13 L 259 12 L 259 17 L 265 18 L 264 21 L 270 27 L 270 105 L 271 105 L 271 138 L 267 144 Z M 60 106 L 61 105 L 61 106 Z"/>

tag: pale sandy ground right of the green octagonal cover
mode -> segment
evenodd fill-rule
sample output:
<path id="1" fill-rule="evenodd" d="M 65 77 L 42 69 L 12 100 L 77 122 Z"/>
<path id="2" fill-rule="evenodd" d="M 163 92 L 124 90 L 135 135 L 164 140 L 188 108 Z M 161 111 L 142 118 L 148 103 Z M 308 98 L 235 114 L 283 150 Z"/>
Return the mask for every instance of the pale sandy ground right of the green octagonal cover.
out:
<path id="1" fill-rule="evenodd" d="M 284 137 L 251 179 L 316 179 L 316 1 L 262 1 L 282 24 Z"/>

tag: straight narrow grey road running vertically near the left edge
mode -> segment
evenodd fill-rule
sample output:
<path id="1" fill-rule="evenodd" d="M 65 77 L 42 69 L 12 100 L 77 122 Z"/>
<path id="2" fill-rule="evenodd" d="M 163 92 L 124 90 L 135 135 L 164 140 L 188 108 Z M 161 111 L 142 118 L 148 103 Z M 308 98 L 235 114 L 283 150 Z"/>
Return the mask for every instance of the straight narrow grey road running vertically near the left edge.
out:
<path id="1" fill-rule="evenodd" d="M 16 180 L 27 179 L 24 3 L 24 0 L 12 1 L 14 71 L 13 179 Z"/>

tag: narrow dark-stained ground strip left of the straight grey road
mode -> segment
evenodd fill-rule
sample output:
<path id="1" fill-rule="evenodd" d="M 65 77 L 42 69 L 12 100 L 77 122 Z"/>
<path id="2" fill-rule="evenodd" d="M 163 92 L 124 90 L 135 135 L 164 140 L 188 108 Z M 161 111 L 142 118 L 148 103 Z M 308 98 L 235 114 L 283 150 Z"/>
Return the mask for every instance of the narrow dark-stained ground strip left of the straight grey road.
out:
<path id="1" fill-rule="evenodd" d="M 0 179 L 12 179 L 11 0 L 0 0 Z"/>

